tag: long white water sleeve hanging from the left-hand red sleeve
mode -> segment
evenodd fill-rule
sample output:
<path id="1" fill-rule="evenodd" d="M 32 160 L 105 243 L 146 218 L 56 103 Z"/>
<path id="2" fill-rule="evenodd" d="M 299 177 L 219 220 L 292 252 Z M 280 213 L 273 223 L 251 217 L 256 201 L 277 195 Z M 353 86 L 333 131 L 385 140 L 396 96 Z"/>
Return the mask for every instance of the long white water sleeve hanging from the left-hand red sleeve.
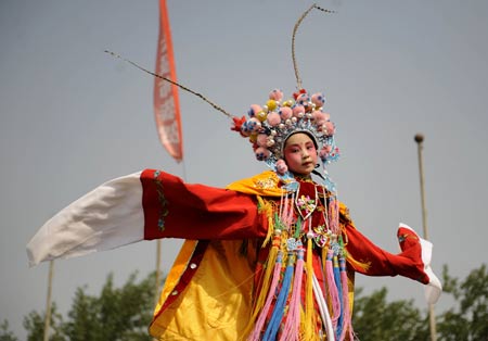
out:
<path id="1" fill-rule="evenodd" d="M 29 265 L 144 239 L 141 172 L 110 180 L 49 219 L 27 244 Z"/>

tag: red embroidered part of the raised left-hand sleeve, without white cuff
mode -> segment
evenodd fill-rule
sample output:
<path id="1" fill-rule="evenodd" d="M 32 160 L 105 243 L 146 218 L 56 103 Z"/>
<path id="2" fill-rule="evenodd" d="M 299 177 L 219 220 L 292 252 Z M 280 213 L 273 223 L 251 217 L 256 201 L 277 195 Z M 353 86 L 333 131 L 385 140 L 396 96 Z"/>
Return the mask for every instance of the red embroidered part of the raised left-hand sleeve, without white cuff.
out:
<path id="1" fill-rule="evenodd" d="M 266 236 L 255 195 L 188 185 L 170 174 L 146 169 L 143 188 L 144 239 L 245 239 Z"/>

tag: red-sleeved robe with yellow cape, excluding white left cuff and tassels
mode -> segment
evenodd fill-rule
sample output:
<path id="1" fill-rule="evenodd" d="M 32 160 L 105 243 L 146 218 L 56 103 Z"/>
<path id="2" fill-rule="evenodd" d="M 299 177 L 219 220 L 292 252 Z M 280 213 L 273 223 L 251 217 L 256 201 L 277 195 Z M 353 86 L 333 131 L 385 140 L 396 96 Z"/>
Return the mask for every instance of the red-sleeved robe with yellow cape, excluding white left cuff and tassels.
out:
<path id="1" fill-rule="evenodd" d="M 265 172 L 229 189 L 218 189 L 188 185 L 164 172 L 146 169 L 141 184 L 144 239 L 188 240 L 167 277 L 150 327 L 152 336 L 160 340 L 246 339 L 256 301 L 256 277 L 262 270 L 261 245 L 270 237 L 270 219 L 262 204 L 264 200 L 279 204 L 280 179 Z M 355 271 L 432 282 L 433 274 L 426 270 L 428 264 L 422 254 L 425 241 L 413 230 L 399 229 L 402 252 L 391 254 L 355 228 L 344 205 L 341 228 L 350 298 Z M 269 244 L 265 248 L 268 252 Z M 313 271 L 323 282 L 320 256 L 314 254 Z"/>

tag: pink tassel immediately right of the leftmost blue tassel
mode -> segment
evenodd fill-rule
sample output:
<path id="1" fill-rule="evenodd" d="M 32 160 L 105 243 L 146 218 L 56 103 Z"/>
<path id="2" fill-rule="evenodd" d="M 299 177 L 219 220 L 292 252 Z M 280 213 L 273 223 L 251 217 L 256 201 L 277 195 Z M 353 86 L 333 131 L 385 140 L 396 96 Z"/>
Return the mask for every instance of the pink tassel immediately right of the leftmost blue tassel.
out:
<path id="1" fill-rule="evenodd" d="M 300 296 L 301 296 L 301 279 L 304 275 L 304 250 L 297 252 L 297 261 L 295 267 L 295 278 L 293 280 L 292 299 L 290 300 L 288 314 L 280 337 L 280 341 L 298 340 L 300 328 Z"/>

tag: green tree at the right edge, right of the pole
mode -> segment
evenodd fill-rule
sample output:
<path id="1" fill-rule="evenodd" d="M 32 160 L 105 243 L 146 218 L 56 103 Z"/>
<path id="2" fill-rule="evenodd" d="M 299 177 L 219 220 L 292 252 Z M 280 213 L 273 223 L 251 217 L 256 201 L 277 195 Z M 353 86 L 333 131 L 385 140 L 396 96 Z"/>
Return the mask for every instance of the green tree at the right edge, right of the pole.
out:
<path id="1" fill-rule="evenodd" d="M 488 340 L 488 273 L 486 264 L 459 281 L 444 267 L 444 291 L 452 294 L 454 306 L 440 315 L 437 331 L 440 340 Z"/>

